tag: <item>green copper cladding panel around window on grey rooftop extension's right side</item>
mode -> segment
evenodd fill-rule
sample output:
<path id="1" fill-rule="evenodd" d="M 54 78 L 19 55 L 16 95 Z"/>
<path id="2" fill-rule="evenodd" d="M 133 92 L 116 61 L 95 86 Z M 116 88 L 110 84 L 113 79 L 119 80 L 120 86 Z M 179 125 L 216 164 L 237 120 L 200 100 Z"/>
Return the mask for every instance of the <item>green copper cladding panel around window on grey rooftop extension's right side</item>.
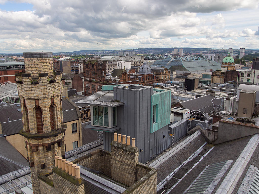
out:
<path id="1" fill-rule="evenodd" d="M 154 88 L 153 91 L 157 93 L 151 95 L 150 133 L 170 124 L 171 90 Z"/>

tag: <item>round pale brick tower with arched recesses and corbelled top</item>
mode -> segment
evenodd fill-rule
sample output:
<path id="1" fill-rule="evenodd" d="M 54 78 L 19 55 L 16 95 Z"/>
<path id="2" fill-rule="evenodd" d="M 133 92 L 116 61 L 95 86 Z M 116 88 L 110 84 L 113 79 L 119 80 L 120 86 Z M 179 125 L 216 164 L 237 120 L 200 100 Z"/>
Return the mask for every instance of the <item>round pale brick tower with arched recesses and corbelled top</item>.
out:
<path id="1" fill-rule="evenodd" d="M 31 167 L 33 193 L 40 193 L 39 174 L 52 172 L 54 156 L 64 158 L 62 119 L 62 82 L 60 72 L 53 73 L 53 54 L 24 53 L 25 73 L 16 74 L 21 99 L 23 131 Z"/>

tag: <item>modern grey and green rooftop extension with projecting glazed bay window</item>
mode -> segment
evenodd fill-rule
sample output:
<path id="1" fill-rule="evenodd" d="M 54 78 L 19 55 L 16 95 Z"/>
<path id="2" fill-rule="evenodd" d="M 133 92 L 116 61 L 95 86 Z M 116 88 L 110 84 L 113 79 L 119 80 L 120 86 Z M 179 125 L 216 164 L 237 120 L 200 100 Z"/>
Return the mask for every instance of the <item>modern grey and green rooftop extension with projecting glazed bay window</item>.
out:
<path id="1" fill-rule="evenodd" d="M 103 131 L 104 149 L 110 151 L 111 132 L 136 137 L 139 161 L 146 163 L 166 150 L 171 142 L 171 90 L 141 85 L 109 85 L 77 102 L 91 106 L 91 124 L 86 128 Z"/>

